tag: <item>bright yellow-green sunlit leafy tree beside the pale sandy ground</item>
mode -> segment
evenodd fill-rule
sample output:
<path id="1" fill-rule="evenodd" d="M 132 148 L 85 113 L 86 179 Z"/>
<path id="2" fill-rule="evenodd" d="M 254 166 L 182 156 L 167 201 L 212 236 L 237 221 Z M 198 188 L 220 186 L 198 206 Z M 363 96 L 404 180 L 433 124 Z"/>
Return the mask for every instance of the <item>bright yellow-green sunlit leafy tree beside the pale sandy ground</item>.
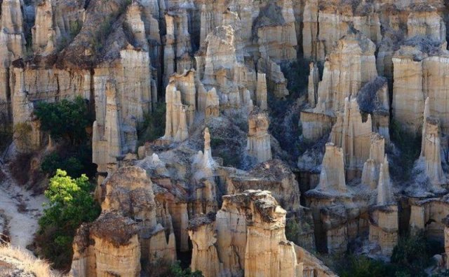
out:
<path id="1" fill-rule="evenodd" d="M 100 207 L 91 195 L 92 185 L 86 175 L 67 176 L 58 169 L 45 192 L 48 204 L 39 219 L 36 244 L 39 254 L 55 267 L 67 269 L 72 259 L 72 242 L 82 222 L 91 222 L 100 214 Z"/>

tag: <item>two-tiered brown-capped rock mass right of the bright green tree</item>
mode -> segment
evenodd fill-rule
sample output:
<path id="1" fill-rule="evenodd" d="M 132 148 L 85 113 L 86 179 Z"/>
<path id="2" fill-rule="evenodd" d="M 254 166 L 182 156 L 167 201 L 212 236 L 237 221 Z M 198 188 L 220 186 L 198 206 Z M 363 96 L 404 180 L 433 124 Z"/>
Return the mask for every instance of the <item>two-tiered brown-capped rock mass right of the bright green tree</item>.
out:
<path id="1" fill-rule="evenodd" d="M 175 262 L 175 220 L 156 203 L 153 187 L 138 167 L 122 167 L 107 178 L 102 215 L 75 236 L 74 276 L 139 276 L 141 260 L 161 272 L 161 264 Z"/>

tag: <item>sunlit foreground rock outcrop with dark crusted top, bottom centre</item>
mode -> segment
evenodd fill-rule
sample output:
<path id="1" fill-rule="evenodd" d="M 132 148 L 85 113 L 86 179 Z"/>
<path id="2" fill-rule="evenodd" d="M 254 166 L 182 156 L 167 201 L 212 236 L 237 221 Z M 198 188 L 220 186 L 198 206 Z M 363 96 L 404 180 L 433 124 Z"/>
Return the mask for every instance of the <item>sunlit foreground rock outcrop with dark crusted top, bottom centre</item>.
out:
<path id="1" fill-rule="evenodd" d="M 322 264 L 296 254 L 299 247 L 284 234 L 285 215 L 269 192 L 249 190 L 225 197 L 215 222 L 210 216 L 190 222 L 192 268 L 204 276 L 303 276 L 307 263 L 305 272 L 312 267 L 320 276 L 334 276 Z M 194 263 L 205 255 L 208 266 Z"/>

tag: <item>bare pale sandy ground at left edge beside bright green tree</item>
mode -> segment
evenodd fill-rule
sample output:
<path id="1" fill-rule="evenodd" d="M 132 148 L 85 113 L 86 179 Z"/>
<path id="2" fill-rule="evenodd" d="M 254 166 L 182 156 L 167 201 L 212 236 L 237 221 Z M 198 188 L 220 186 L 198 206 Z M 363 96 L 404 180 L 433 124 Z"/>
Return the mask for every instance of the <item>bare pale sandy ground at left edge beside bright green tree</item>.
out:
<path id="1" fill-rule="evenodd" d="M 32 243 L 38 228 L 45 196 L 32 196 L 32 192 L 19 187 L 11 178 L 7 166 L 1 166 L 5 180 L 0 180 L 0 215 L 6 218 L 11 244 L 25 249 Z"/>

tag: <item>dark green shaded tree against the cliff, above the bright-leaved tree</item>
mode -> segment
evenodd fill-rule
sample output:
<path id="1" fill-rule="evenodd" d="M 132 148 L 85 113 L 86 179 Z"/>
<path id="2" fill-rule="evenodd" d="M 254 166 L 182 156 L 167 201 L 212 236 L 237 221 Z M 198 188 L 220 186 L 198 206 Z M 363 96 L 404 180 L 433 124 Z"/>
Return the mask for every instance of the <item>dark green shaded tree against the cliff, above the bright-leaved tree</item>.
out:
<path id="1" fill-rule="evenodd" d="M 41 129 L 50 132 L 53 139 L 67 137 L 72 145 L 86 141 L 86 127 L 91 124 L 86 101 L 76 97 L 74 101 L 63 99 L 56 103 L 40 102 L 34 111 L 41 121 Z"/>

